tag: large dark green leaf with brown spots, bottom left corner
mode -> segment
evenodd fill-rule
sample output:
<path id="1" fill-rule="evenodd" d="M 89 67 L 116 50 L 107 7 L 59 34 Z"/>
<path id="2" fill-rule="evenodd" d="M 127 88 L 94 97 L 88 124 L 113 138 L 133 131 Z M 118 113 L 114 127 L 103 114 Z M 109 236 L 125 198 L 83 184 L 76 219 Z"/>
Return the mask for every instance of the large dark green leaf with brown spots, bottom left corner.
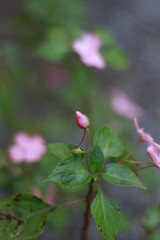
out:
<path id="1" fill-rule="evenodd" d="M 38 237 L 50 206 L 31 194 L 18 194 L 0 205 L 0 239 L 31 240 Z"/>

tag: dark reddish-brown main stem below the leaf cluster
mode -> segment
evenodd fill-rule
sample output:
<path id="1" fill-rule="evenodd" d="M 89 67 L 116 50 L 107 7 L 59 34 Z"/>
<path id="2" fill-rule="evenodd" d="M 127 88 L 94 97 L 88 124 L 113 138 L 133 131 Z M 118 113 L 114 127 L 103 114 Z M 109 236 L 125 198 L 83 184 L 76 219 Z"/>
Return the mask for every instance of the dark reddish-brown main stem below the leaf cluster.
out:
<path id="1" fill-rule="evenodd" d="M 88 226 L 89 226 L 89 216 L 90 216 L 90 206 L 91 206 L 91 201 L 92 201 L 93 184 L 94 184 L 94 180 L 92 178 L 90 181 L 89 190 L 88 190 L 88 193 L 87 193 L 86 199 L 85 199 L 86 210 L 84 212 L 84 223 L 83 223 L 82 235 L 81 235 L 82 240 L 87 240 L 87 231 L 88 231 Z"/>

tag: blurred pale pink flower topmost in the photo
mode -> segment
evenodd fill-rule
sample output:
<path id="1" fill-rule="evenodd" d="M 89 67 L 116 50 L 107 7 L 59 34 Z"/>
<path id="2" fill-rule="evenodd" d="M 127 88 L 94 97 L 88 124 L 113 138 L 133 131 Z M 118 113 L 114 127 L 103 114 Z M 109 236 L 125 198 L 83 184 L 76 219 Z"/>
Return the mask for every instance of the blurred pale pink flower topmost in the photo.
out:
<path id="1" fill-rule="evenodd" d="M 101 40 L 93 33 L 84 33 L 81 39 L 73 42 L 74 51 L 85 65 L 103 69 L 106 67 L 106 63 L 99 53 L 100 47 Z"/>

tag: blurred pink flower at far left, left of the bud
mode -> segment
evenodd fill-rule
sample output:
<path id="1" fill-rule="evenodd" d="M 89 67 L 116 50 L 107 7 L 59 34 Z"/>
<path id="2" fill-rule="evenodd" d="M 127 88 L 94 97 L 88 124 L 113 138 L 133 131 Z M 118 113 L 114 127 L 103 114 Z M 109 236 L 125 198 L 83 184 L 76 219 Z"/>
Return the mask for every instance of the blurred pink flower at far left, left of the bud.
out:
<path id="1" fill-rule="evenodd" d="M 37 162 L 47 151 L 44 139 L 39 135 L 30 136 L 20 132 L 14 136 L 14 144 L 8 149 L 12 162 Z"/>

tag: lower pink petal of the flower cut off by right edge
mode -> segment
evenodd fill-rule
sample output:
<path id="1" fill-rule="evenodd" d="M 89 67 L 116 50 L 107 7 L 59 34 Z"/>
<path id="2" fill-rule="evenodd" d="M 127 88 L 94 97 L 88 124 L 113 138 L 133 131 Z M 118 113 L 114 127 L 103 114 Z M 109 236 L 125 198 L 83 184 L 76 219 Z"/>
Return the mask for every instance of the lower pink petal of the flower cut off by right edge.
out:
<path id="1" fill-rule="evenodd" d="M 154 164 L 160 168 L 160 145 L 153 144 L 147 147 L 147 154 L 153 160 Z"/>

